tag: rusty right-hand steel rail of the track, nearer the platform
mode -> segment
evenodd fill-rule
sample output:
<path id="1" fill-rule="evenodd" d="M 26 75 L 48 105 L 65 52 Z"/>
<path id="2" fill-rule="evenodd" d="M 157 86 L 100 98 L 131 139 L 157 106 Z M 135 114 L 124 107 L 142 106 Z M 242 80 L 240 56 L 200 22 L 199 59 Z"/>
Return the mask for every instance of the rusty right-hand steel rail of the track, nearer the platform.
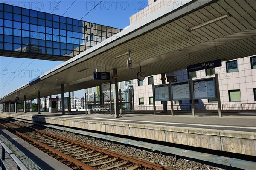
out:
<path id="1" fill-rule="evenodd" d="M 10 123 L 16 124 L 17 126 L 26 127 L 26 126 L 23 126 L 23 125 L 14 123 L 14 122 L 10 122 Z M 139 164 L 139 165 L 141 165 L 143 167 L 154 168 L 155 170 L 174 170 L 174 169 L 171 169 L 171 168 L 168 168 L 168 167 L 164 167 L 164 166 L 161 166 L 161 165 L 158 165 L 158 164 L 153 164 L 151 162 L 147 162 L 147 161 L 143 161 L 143 160 L 140 160 L 140 159 L 137 159 L 137 158 L 133 158 L 131 156 L 125 156 L 125 155 L 120 154 L 120 153 L 116 153 L 116 152 L 113 152 L 113 151 L 109 151 L 109 150 L 105 150 L 105 149 L 102 149 L 102 148 L 99 148 L 99 147 L 95 147 L 95 146 L 90 145 L 90 144 L 84 144 L 84 143 L 81 143 L 79 141 L 74 141 L 72 139 L 64 138 L 64 137 L 61 137 L 61 136 L 58 136 L 58 135 L 54 135 L 54 134 L 47 133 L 47 132 L 44 132 L 44 131 L 41 131 L 41 130 L 37 130 L 37 129 L 34 129 L 32 127 L 26 127 L 26 128 L 29 128 L 31 130 L 35 130 L 35 131 L 37 131 L 39 133 L 50 135 L 50 136 L 55 137 L 55 138 L 60 138 L 60 139 L 65 140 L 65 141 L 70 141 L 70 142 L 72 142 L 74 144 L 78 144 L 78 145 L 81 145 L 83 147 L 90 148 L 92 150 L 97 150 L 98 152 L 102 152 L 102 153 L 105 153 L 105 154 L 113 156 L 113 157 L 117 157 L 117 158 L 120 158 L 120 159 L 123 159 L 123 160 L 127 160 L 127 161 L 129 161 L 131 163 Z"/>

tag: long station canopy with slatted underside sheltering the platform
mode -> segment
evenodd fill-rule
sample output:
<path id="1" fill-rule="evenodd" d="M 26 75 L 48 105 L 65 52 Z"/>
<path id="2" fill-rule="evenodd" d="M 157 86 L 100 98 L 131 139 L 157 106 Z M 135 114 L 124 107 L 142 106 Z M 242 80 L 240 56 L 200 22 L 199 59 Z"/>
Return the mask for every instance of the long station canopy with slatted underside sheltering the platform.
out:
<path id="1" fill-rule="evenodd" d="M 62 63 L 0 99 L 22 100 L 99 86 L 93 71 L 117 69 L 118 81 L 186 69 L 187 65 L 256 54 L 255 0 L 193 0 L 178 9 L 160 10 Z M 133 69 L 127 69 L 127 52 Z M 123 55 L 124 54 L 124 55 Z M 117 56 L 120 56 L 116 58 Z M 111 80 L 112 81 L 112 80 Z"/>

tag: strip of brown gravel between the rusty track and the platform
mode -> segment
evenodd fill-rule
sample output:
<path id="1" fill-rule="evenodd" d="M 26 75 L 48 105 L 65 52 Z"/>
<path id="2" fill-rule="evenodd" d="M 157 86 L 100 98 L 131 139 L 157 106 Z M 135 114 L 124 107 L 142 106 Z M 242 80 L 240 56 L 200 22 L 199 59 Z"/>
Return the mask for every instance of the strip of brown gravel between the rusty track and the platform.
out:
<path id="1" fill-rule="evenodd" d="M 127 156 L 139 158 L 144 161 L 150 161 L 154 164 L 160 164 L 160 165 L 167 166 L 169 168 L 173 168 L 173 169 L 177 169 L 177 170 L 220 170 L 217 167 L 212 167 L 209 165 L 201 164 L 201 163 L 198 163 L 195 161 L 189 161 L 186 159 L 180 158 L 177 161 L 175 161 L 175 157 L 172 157 L 172 156 L 166 156 L 163 154 L 148 152 L 148 151 L 140 150 L 140 149 L 130 147 L 130 146 L 125 147 L 124 145 L 116 144 L 116 143 L 109 142 L 109 141 L 103 141 L 98 138 L 77 135 L 77 134 L 74 134 L 71 132 L 56 130 L 56 129 L 43 127 L 43 126 L 37 126 L 37 125 L 29 124 L 26 122 L 20 122 L 20 121 L 15 121 L 15 122 L 17 122 L 19 124 L 23 124 L 24 126 L 33 126 L 35 128 L 38 128 L 38 129 L 43 130 L 48 133 L 60 135 L 65 138 L 70 138 L 75 141 L 83 142 L 85 144 L 90 144 L 90 145 L 93 145 L 96 147 L 102 147 L 107 150 L 115 151 L 117 153 L 123 153 Z M 116 170 L 121 170 L 121 169 L 116 169 Z"/>

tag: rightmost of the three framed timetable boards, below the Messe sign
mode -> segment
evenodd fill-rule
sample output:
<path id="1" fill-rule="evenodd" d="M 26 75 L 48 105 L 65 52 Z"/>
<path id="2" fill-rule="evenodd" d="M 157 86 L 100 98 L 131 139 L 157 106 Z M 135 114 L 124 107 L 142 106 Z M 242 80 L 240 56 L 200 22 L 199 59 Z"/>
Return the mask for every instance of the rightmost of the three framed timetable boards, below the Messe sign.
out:
<path id="1" fill-rule="evenodd" d="M 216 98 L 215 79 L 207 78 L 193 81 L 194 99 Z"/>

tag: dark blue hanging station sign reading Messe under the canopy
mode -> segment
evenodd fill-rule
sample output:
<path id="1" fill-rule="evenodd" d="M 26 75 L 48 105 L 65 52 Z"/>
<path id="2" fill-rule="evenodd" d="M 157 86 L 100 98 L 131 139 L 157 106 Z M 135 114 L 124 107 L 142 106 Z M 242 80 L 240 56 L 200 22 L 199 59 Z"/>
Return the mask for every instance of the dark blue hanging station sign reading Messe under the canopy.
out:
<path id="1" fill-rule="evenodd" d="M 189 65 L 187 66 L 187 70 L 188 72 L 195 72 L 202 69 L 211 69 L 211 68 L 220 67 L 220 66 L 221 66 L 221 59 L 218 59 L 214 61 L 207 61 L 204 63 Z"/>

